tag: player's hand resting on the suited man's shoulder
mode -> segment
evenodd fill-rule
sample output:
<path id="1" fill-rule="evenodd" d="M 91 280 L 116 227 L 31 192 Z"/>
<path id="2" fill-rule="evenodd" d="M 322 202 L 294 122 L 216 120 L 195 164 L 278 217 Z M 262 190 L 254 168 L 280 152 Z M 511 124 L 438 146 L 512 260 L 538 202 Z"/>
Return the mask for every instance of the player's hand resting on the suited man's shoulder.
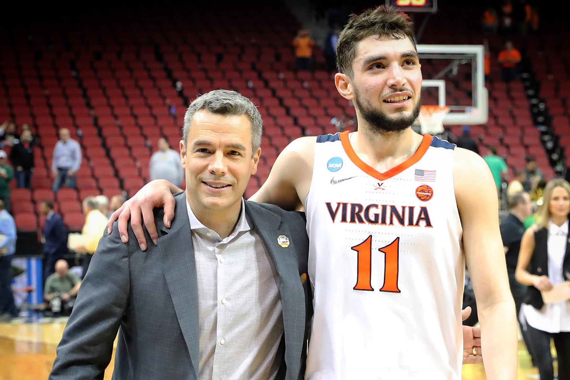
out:
<path id="1" fill-rule="evenodd" d="M 156 245 L 158 233 L 154 224 L 153 209 L 155 207 L 164 207 L 164 225 L 170 228 L 170 223 L 174 219 L 174 206 L 176 201 L 172 196 L 172 191 L 176 191 L 176 187 L 166 180 L 154 180 L 144 185 L 131 199 L 113 212 L 109 223 L 107 224 L 109 234 L 112 232 L 113 222 L 119 221 L 119 233 L 121 241 L 124 243 L 129 241 L 127 226 L 129 218 L 131 219 L 131 228 L 135 233 L 141 250 L 146 250 L 148 242 L 144 236 L 143 221 L 146 226 L 151 240 Z"/>

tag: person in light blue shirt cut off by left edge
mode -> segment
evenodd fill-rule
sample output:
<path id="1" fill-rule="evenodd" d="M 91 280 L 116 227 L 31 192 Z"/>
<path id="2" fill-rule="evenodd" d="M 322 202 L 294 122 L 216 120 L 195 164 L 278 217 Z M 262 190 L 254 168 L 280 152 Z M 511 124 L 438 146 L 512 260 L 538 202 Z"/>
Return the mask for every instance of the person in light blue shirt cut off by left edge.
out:
<path id="1" fill-rule="evenodd" d="M 12 293 L 10 262 L 16 252 L 16 223 L 0 200 L 0 321 L 18 316 Z"/>

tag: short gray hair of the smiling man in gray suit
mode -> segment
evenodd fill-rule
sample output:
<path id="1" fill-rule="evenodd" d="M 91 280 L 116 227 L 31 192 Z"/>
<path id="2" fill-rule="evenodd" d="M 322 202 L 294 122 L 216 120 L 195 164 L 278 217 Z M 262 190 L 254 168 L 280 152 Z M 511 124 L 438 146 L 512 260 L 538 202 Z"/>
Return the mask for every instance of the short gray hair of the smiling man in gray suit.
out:
<path id="1" fill-rule="evenodd" d="M 188 131 L 192 126 L 192 120 L 196 112 L 206 110 L 210 114 L 222 116 L 247 115 L 251 122 L 251 145 L 253 152 L 261 146 L 261 134 L 263 132 L 263 122 L 261 114 L 255 104 L 239 92 L 231 90 L 214 90 L 206 92 L 194 99 L 186 114 L 184 115 L 184 145 L 188 144 Z"/>

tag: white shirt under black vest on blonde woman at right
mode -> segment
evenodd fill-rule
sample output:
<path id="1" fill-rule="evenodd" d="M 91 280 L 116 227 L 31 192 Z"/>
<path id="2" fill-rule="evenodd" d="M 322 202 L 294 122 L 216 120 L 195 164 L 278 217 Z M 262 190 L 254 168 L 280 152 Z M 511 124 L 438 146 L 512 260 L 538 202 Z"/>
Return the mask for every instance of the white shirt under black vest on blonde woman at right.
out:
<path id="1" fill-rule="evenodd" d="M 561 227 L 548 223 L 548 280 L 552 286 L 564 282 L 562 264 L 568 240 L 568 220 Z M 547 333 L 570 332 L 570 301 L 544 304 L 537 310 L 523 304 L 524 317 L 529 325 Z"/>

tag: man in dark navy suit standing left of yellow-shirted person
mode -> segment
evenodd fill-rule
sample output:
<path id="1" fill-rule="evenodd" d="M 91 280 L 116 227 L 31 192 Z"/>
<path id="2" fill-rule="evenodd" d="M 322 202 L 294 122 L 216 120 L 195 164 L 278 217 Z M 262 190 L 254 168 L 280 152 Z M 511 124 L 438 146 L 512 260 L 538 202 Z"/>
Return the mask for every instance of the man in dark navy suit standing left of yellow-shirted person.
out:
<path id="1" fill-rule="evenodd" d="M 42 230 L 42 243 L 44 253 L 44 278 L 55 271 L 55 263 L 67 254 L 67 229 L 63 219 L 54 211 L 51 201 L 43 201 L 41 212 L 46 216 Z"/>

